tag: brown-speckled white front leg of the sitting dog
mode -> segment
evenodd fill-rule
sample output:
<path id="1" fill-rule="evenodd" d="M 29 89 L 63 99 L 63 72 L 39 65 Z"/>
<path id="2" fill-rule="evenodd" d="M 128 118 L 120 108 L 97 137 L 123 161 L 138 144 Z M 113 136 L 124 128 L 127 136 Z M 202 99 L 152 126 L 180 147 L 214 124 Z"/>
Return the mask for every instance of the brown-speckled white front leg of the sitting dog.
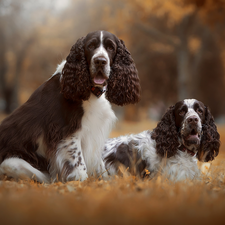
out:
<path id="1" fill-rule="evenodd" d="M 78 138 L 72 136 L 59 143 L 56 158 L 51 161 L 50 174 L 53 180 L 58 178 L 63 182 L 84 181 L 88 178 L 81 143 Z"/>

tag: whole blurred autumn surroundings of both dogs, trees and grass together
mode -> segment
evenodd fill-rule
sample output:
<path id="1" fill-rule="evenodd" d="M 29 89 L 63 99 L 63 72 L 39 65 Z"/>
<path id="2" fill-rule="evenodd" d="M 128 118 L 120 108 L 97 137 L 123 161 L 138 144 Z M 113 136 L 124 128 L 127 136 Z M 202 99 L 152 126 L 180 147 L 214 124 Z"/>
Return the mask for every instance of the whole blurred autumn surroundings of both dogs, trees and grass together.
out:
<path id="1" fill-rule="evenodd" d="M 173 183 L 123 174 L 109 181 L 0 180 L 1 224 L 224 224 L 225 0 L 0 0 L 0 121 L 24 103 L 94 30 L 123 39 L 137 65 L 139 104 L 113 106 L 111 137 L 152 129 L 184 98 L 208 105 L 221 150 L 204 179 Z"/>

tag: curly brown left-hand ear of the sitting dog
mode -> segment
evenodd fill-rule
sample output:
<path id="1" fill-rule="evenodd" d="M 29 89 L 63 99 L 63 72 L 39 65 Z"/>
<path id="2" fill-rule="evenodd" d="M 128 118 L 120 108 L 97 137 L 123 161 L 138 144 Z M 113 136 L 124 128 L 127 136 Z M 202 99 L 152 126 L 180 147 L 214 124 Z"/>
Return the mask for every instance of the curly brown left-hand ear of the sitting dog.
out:
<path id="1" fill-rule="evenodd" d="M 61 92 L 66 99 L 87 100 L 91 93 L 91 80 L 84 55 L 84 37 L 72 46 L 62 71 Z"/>

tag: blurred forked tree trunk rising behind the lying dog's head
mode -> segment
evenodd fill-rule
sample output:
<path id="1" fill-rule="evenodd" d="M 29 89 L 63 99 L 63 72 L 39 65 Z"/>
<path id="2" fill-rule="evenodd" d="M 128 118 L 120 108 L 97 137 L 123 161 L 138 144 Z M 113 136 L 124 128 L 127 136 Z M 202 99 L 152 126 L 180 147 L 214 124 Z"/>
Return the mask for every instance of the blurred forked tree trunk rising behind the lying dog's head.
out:
<path id="1" fill-rule="evenodd" d="M 137 28 L 145 32 L 156 40 L 164 44 L 170 45 L 174 48 L 177 56 L 177 100 L 193 97 L 196 87 L 193 86 L 193 79 L 197 79 L 196 72 L 198 71 L 199 63 L 201 61 L 202 52 L 200 51 L 194 57 L 194 66 L 192 67 L 191 52 L 189 50 L 188 41 L 193 29 L 196 26 L 197 10 L 191 14 L 184 16 L 182 21 L 178 24 L 177 35 L 167 35 L 155 28 L 147 27 L 142 24 L 137 24 Z M 197 82 L 196 82 L 197 84 Z"/>

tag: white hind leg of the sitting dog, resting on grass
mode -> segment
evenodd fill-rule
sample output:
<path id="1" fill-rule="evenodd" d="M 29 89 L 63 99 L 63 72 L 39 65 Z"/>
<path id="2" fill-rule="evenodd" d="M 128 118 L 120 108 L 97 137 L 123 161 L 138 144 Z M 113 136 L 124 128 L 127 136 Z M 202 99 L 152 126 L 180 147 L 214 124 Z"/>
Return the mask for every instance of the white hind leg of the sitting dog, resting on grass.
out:
<path id="1" fill-rule="evenodd" d="M 47 175 L 35 169 L 25 160 L 19 158 L 5 159 L 0 165 L 0 176 L 1 175 L 22 180 L 36 180 L 41 183 L 49 183 L 50 180 Z"/>

